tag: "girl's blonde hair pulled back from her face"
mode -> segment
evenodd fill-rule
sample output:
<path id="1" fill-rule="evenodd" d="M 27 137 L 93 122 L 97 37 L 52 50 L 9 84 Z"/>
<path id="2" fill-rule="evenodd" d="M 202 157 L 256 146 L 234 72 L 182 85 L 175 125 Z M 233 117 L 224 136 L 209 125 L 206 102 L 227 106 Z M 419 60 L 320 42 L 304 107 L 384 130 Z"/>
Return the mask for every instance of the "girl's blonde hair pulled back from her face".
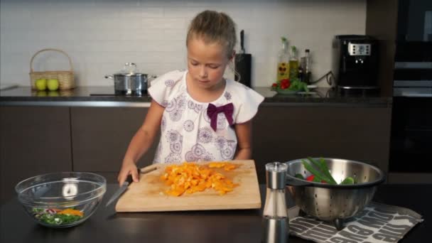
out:
<path id="1" fill-rule="evenodd" d="M 227 58 L 232 58 L 237 43 L 235 23 L 226 13 L 202 11 L 190 22 L 186 46 L 193 38 L 202 38 L 205 43 L 220 43 L 225 47 Z"/>

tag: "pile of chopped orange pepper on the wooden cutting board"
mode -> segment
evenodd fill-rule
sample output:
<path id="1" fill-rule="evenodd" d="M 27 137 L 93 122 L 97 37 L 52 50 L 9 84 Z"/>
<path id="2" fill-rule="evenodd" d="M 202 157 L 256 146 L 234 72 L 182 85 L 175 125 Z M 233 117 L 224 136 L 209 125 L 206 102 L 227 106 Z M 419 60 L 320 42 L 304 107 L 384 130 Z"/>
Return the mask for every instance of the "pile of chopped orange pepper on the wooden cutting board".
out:
<path id="1" fill-rule="evenodd" d="M 165 173 L 161 175 L 161 180 L 170 186 L 166 194 L 178 197 L 183 193 L 191 194 L 213 188 L 220 195 L 224 195 L 238 186 L 212 168 L 224 168 L 225 171 L 231 171 L 237 168 L 237 165 L 228 162 L 211 162 L 198 166 L 195 163 L 185 162 L 181 165 L 167 166 Z"/>

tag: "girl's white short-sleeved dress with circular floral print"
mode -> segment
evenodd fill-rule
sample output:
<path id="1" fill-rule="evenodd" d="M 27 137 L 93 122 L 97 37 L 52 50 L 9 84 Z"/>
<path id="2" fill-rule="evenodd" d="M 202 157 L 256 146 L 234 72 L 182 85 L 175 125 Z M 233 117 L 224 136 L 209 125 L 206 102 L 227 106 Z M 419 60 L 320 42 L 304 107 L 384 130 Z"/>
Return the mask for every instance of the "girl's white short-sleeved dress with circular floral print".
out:
<path id="1" fill-rule="evenodd" d="M 230 126 L 225 114 L 217 114 L 214 131 L 207 115 L 209 103 L 197 102 L 186 88 L 186 73 L 173 71 L 151 82 L 148 94 L 165 107 L 159 141 L 153 163 L 182 163 L 184 161 L 232 160 L 237 148 L 234 126 Z M 211 104 L 220 107 L 232 103 L 233 124 L 252 119 L 257 114 L 264 97 L 251 88 L 233 80 L 227 80 L 225 91 Z"/>

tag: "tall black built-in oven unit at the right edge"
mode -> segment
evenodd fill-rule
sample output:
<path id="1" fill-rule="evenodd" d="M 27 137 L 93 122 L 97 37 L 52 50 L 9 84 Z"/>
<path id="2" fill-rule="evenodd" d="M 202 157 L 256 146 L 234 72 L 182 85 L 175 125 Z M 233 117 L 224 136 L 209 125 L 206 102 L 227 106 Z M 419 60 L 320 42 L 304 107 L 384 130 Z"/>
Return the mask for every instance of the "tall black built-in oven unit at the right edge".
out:
<path id="1" fill-rule="evenodd" d="M 389 172 L 432 173 L 432 1 L 398 9 Z"/>

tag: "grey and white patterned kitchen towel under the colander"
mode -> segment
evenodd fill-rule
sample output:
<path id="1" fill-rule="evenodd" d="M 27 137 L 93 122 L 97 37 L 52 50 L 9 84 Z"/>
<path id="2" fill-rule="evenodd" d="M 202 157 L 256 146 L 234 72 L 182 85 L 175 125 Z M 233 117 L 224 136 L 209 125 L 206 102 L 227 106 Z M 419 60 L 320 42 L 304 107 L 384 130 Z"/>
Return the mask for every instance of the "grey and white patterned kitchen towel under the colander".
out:
<path id="1" fill-rule="evenodd" d="M 371 202 L 355 217 L 344 221 L 338 231 L 333 222 L 323 222 L 311 216 L 298 216 L 298 207 L 288 210 L 291 235 L 313 242 L 399 242 L 409 230 L 423 222 L 421 215 L 404 207 Z"/>

